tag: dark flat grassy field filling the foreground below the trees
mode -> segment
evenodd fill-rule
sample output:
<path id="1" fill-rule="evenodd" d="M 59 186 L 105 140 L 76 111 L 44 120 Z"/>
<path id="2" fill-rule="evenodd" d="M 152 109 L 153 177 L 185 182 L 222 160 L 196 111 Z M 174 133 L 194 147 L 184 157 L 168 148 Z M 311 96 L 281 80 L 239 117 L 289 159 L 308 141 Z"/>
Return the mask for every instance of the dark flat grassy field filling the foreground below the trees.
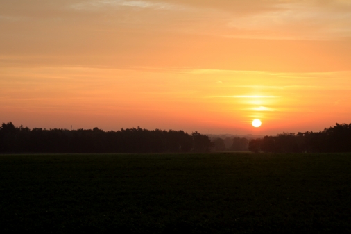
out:
<path id="1" fill-rule="evenodd" d="M 0 232 L 351 233 L 351 154 L 0 156 Z"/>

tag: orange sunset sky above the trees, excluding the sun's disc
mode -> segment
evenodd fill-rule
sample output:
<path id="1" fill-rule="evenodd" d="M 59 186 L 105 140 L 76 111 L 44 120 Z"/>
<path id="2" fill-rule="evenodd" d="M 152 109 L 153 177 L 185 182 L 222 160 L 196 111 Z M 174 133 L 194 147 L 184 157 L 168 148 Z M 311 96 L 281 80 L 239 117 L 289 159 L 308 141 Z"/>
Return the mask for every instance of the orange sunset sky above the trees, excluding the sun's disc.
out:
<path id="1" fill-rule="evenodd" d="M 350 0 L 0 6 L 0 122 L 259 135 L 351 122 Z"/>

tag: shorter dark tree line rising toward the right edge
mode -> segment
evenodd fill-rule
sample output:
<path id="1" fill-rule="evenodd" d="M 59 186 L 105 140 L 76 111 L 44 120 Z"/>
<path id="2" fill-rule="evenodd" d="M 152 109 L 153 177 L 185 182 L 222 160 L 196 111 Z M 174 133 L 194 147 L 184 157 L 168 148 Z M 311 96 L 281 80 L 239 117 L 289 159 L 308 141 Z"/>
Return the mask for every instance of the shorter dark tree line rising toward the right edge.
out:
<path id="1" fill-rule="evenodd" d="M 351 124 L 337 124 L 323 131 L 281 133 L 250 140 L 248 149 L 265 153 L 338 153 L 351 152 Z"/>

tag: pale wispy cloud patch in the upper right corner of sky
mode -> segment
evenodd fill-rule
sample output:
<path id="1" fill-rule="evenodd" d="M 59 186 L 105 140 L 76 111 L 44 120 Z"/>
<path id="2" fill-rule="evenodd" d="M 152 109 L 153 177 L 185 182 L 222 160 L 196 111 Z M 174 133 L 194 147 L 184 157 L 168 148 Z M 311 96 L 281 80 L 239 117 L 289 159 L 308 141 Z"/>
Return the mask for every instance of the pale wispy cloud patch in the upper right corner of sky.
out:
<path id="1" fill-rule="evenodd" d="M 336 7 L 337 5 L 337 7 Z M 277 3 L 252 15 L 233 17 L 229 27 L 241 33 L 234 37 L 330 40 L 351 37 L 351 11 L 341 10 L 350 1 Z"/>

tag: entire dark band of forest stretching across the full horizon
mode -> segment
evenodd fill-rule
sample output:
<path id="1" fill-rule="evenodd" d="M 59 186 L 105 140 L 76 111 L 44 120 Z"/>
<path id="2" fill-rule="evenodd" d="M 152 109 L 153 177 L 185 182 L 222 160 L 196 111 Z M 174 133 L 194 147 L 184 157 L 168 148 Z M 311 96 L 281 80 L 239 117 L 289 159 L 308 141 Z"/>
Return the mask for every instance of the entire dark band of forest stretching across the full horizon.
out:
<path id="1" fill-rule="evenodd" d="M 226 139 L 228 140 L 228 139 Z M 120 131 L 91 129 L 43 129 L 9 122 L 0 127 L 0 153 L 206 153 L 215 151 L 252 151 L 264 153 L 332 153 L 351 152 L 351 124 L 336 124 L 323 131 L 281 133 L 247 140 L 209 139 L 197 131 L 146 130 L 126 128 Z"/>

